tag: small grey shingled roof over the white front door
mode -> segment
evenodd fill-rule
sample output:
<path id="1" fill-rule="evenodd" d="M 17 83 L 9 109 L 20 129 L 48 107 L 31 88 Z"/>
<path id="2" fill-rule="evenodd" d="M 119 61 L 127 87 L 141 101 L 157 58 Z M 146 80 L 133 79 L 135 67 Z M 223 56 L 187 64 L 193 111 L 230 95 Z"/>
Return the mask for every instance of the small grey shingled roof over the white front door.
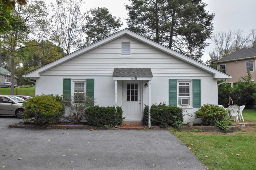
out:
<path id="1" fill-rule="evenodd" d="M 150 68 L 114 68 L 113 77 L 153 77 Z"/>

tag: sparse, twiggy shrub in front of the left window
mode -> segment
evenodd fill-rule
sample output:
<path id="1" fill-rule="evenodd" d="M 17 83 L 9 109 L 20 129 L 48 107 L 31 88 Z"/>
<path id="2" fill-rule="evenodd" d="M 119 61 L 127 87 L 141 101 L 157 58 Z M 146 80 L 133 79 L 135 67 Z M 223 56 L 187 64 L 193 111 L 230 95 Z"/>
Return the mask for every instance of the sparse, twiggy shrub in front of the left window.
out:
<path id="1" fill-rule="evenodd" d="M 85 118 L 85 110 L 95 105 L 95 103 L 95 99 L 85 96 L 84 93 L 76 93 L 76 96 L 70 96 L 69 99 L 62 101 L 67 113 L 65 119 L 74 124 L 80 124 Z"/>

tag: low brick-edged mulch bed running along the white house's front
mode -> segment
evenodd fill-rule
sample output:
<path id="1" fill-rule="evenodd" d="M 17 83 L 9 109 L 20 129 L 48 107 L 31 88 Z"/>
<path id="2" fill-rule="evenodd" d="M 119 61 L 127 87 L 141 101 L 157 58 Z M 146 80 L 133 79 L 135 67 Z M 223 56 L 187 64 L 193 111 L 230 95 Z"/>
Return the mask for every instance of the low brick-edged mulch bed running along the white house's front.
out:
<path id="1" fill-rule="evenodd" d="M 240 126 L 230 126 L 230 131 L 239 131 Z M 14 124 L 9 124 L 9 128 L 28 128 L 28 129 L 149 129 L 147 126 L 118 126 L 117 128 L 114 127 L 97 127 L 97 126 L 91 126 L 88 125 L 86 122 L 83 122 L 78 125 L 74 125 L 70 122 L 60 122 L 59 124 L 51 124 L 51 125 L 38 125 L 38 124 L 27 124 L 24 122 L 18 122 Z M 200 129 L 202 131 L 208 131 L 208 132 L 221 132 L 223 131 L 219 127 L 214 126 L 193 126 L 193 127 L 187 127 L 184 126 L 182 129 L 184 131 L 192 131 L 195 128 Z M 171 126 L 168 126 L 167 128 L 160 128 L 160 126 L 151 126 L 151 129 L 157 129 L 157 130 L 168 130 L 168 129 L 176 129 Z"/>

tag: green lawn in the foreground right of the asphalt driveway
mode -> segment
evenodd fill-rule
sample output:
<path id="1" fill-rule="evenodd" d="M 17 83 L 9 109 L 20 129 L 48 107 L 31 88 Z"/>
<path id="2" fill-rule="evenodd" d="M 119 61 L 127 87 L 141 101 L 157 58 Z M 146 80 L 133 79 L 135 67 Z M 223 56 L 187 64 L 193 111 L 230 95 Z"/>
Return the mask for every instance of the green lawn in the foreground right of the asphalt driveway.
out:
<path id="1" fill-rule="evenodd" d="M 171 133 L 189 146 L 190 151 L 209 169 L 251 170 L 256 167 L 256 133 L 253 131 L 232 134 L 179 131 Z"/>

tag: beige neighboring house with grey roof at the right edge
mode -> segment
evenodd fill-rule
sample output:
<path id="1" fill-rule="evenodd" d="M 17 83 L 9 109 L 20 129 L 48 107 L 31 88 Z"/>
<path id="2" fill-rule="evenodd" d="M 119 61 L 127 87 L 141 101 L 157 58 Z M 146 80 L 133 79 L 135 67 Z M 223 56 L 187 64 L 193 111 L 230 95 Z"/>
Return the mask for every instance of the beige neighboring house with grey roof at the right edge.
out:
<path id="1" fill-rule="evenodd" d="M 232 87 L 241 79 L 241 76 L 246 76 L 250 71 L 253 76 L 253 81 L 256 80 L 255 74 L 256 47 L 242 48 L 234 53 L 225 56 L 214 63 L 217 64 L 218 70 L 222 70 L 232 78 L 227 79 L 227 83 L 231 83 Z"/>

